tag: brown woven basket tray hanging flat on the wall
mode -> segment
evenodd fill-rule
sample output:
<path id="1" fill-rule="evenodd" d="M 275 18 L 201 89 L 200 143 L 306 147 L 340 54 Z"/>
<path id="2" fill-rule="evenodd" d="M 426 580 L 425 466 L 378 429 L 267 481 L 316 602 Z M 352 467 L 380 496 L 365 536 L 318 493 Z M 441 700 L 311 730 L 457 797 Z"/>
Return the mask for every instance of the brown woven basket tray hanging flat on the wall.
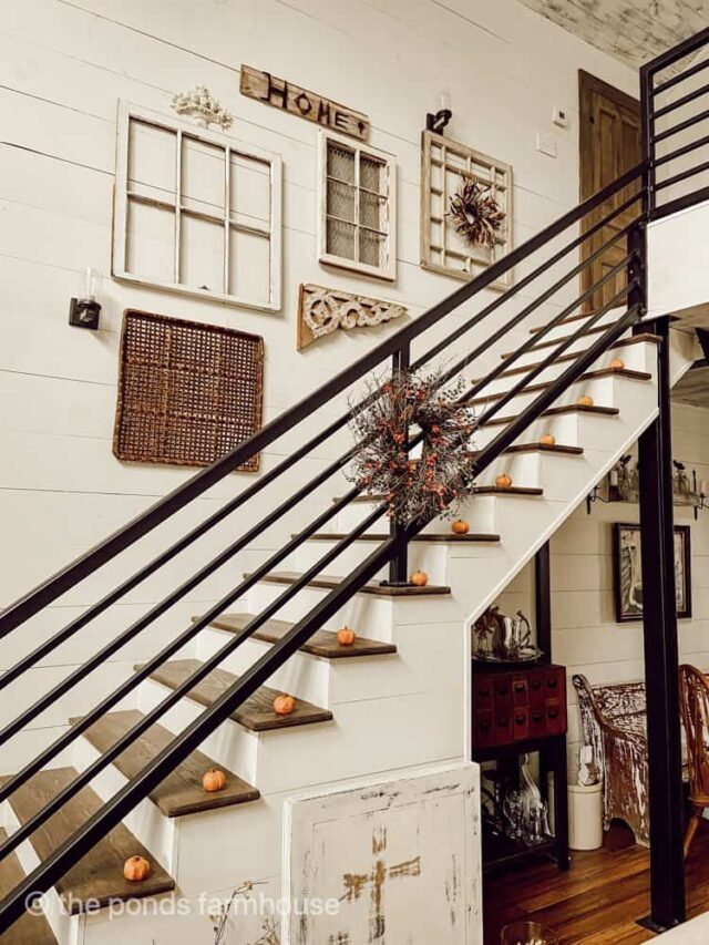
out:
<path id="1" fill-rule="evenodd" d="M 113 433 L 119 460 L 209 465 L 260 429 L 263 402 L 263 338 L 125 311 Z M 239 469 L 258 466 L 256 455 Z"/>

